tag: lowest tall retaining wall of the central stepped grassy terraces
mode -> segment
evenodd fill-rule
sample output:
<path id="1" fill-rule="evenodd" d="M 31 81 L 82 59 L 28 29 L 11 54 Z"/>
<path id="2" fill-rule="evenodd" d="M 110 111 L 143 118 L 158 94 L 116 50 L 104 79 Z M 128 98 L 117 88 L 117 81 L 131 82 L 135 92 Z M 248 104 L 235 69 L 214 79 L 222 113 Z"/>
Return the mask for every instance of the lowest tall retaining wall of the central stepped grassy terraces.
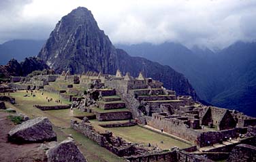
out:
<path id="1" fill-rule="evenodd" d="M 112 112 L 112 113 L 97 113 L 96 119 L 98 121 L 118 121 L 118 120 L 125 120 L 125 119 L 131 119 L 131 112 L 127 111 L 121 111 L 121 112 Z"/>

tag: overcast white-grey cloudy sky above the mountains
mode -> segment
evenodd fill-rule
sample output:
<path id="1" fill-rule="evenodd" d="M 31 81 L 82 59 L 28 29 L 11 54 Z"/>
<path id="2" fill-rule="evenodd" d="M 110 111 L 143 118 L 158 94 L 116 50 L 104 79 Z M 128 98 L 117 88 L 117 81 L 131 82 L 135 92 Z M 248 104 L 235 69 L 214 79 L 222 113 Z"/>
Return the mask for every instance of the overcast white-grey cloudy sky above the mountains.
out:
<path id="1" fill-rule="evenodd" d="M 72 9 L 93 13 L 112 43 L 225 47 L 256 40 L 255 0 L 0 0 L 0 43 L 47 39 Z"/>

